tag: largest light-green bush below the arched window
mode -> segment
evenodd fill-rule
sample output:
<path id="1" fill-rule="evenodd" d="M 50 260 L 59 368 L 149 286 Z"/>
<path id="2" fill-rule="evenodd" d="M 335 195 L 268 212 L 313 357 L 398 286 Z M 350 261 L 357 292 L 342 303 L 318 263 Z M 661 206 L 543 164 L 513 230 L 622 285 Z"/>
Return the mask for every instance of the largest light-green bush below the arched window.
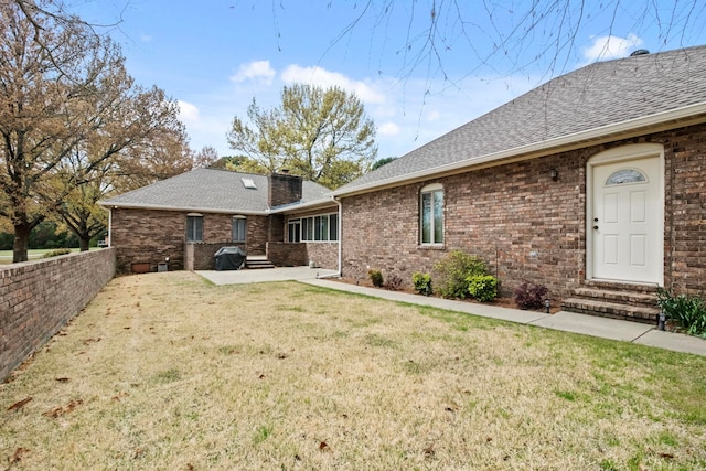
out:
<path id="1" fill-rule="evenodd" d="M 488 275 L 488 265 L 483 259 L 461 250 L 453 250 L 435 266 L 436 290 L 445 298 L 461 298 L 468 296 L 469 277 Z"/>

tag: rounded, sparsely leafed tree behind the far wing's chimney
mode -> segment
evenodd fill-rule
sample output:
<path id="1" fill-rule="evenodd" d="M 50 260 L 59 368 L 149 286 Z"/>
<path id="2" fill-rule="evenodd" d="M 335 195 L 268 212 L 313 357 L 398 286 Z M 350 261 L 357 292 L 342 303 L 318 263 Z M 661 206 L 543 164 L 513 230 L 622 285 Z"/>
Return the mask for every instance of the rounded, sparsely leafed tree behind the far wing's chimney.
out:
<path id="1" fill-rule="evenodd" d="M 248 107 L 250 126 L 233 120 L 228 143 L 253 172 L 286 168 L 307 180 L 336 188 L 360 176 L 375 159 L 375 127 L 360 99 L 340 87 L 284 87 L 281 105 Z"/>

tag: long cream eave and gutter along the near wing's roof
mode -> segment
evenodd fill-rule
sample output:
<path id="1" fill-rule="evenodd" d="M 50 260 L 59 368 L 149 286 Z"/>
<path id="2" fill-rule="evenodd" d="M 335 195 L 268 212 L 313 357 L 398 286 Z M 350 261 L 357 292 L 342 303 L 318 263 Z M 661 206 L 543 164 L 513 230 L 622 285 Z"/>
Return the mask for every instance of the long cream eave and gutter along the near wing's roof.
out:
<path id="1" fill-rule="evenodd" d="M 463 171 L 468 171 L 470 168 L 492 167 L 493 164 L 505 163 L 507 161 L 532 159 L 539 154 L 546 154 L 547 151 L 556 153 L 559 151 L 574 150 L 589 143 L 597 144 L 619 138 L 634 137 L 634 135 L 644 133 L 645 129 L 649 129 L 650 132 L 659 132 L 699 122 L 706 122 L 706 101 L 612 125 L 600 126 L 546 141 L 506 149 L 500 152 L 474 157 L 446 165 L 420 170 L 400 176 L 371 182 L 360 186 L 353 186 L 349 190 L 334 190 L 333 196 L 353 196 L 356 194 L 382 190 L 384 188 L 393 188 L 400 184 L 413 183 L 415 181 L 428 180 L 430 176 L 438 178 L 448 174 L 461 173 Z"/>

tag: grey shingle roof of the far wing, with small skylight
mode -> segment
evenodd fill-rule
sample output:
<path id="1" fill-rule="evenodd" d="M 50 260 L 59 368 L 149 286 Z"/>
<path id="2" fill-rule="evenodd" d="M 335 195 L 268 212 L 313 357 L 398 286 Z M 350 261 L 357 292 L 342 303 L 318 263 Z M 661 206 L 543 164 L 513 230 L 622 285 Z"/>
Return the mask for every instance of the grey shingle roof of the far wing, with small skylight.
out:
<path id="1" fill-rule="evenodd" d="M 243 179 L 252 179 L 248 189 Z M 194 169 L 171 179 L 101 202 L 105 206 L 150 207 L 221 213 L 266 213 L 268 180 L 266 175 Z M 318 183 L 302 182 L 302 203 L 322 200 L 331 191 Z"/>

